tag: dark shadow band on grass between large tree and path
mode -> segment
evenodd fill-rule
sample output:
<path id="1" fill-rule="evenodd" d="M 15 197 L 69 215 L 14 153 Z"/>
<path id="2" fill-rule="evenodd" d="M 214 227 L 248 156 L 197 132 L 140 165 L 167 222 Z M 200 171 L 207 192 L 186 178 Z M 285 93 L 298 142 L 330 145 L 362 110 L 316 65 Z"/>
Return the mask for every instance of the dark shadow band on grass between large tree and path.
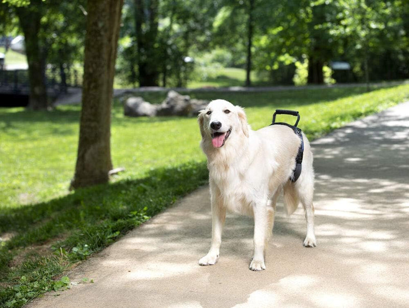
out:
<path id="1" fill-rule="evenodd" d="M 132 229 L 207 181 L 206 164 L 190 162 L 152 170 L 145 178 L 82 188 L 49 202 L 2 209 L 0 232 L 16 235 L 1 247 L 0 264 L 8 264 L 13 249 L 67 233 L 70 235 L 59 244 L 67 251 L 85 244 L 97 251 L 112 241 L 109 234 Z"/>

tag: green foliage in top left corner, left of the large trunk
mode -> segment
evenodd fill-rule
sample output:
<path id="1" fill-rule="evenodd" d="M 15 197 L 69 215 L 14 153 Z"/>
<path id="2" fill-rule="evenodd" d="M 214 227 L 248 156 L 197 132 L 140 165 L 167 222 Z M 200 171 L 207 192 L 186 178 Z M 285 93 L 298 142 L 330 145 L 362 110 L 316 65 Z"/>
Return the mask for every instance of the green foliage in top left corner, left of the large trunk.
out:
<path id="1" fill-rule="evenodd" d="M 32 49 L 29 55 L 39 55 L 32 61 L 43 62 L 53 72 L 58 70 L 59 81 L 74 79 L 73 66 L 81 63 L 83 56 L 85 3 L 85 0 L 5 0 L 0 4 L 0 31 L 5 35 L 22 34 L 24 29 L 33 31 L 25 38 L 26 49 Z M 23 27 L 25 23 L 29 26 Z"/>

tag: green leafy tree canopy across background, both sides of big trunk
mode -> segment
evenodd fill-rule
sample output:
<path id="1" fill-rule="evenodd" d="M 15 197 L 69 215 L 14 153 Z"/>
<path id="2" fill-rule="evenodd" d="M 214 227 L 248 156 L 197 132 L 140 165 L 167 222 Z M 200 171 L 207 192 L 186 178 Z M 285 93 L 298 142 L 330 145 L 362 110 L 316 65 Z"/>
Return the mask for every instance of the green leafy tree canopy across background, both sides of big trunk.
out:
<path id="1" fill-rule="evenodd" d="M 84 0 L 5 0 L 1 8 L 0 30 L 25 34 L 34 70 L 51 64 L 63 79 L 82 65 Z M 404 79 L 408 12 L 406 0 L 125 0 L 118 83 L 185 86 L 210 54 L 223 66 L 246 68 L 247 85 L 250 70 L 270 84 L 291 84 L 304 64 L 306 81 L 323 83 L 323 69 L 334 61 L 351 66 L 347 78 L 335 72 L 338 82 Z"/>

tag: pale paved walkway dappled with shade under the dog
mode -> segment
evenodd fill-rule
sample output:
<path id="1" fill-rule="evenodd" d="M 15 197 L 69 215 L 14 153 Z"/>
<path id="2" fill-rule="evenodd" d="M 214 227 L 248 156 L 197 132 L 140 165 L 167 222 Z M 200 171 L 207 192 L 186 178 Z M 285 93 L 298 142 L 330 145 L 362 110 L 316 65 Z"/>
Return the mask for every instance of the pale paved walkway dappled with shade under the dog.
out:
<path id="1" fill-rule="evenodd" d="M 316 248 L 302 245 L 302 209 L 279 210 L 267 269 L 252 272 L 253 222 L 230 215 L 218 263 L 200 267 L 211 231 L 203 187 L 75 268 L 71 290 L 28 306 L 408 307 L 409 102 L 312 146 Z"/>

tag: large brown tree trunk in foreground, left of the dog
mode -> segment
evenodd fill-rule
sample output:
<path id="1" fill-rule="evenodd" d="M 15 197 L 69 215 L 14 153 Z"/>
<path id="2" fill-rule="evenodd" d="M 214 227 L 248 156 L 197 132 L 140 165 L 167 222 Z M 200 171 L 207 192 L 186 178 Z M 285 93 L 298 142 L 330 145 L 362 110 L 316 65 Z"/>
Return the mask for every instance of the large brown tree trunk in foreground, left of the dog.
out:
<path id="1" fill-rule="evenodd" d="M 112 85 L 123 0 L 88 0 L 78 156 L 71 187 L 108 181 Z"/>

